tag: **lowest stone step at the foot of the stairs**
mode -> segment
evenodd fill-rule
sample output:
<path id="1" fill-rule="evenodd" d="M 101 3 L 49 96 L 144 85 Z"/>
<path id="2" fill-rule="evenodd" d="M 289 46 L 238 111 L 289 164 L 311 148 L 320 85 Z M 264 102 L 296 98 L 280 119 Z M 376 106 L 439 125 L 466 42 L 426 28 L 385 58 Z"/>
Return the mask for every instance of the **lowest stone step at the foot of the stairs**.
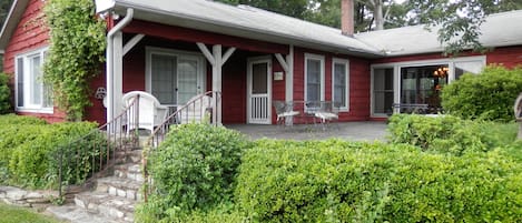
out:
<path id="1" fill-rule="evenodd" d="M 110 195 L 106 192 L 83 192 L 75 196 L 77 206 L 98 213 L 102 216 L 114 217 L 124 222 L 134 221 L 136 201 L 121 196 Z"/>

